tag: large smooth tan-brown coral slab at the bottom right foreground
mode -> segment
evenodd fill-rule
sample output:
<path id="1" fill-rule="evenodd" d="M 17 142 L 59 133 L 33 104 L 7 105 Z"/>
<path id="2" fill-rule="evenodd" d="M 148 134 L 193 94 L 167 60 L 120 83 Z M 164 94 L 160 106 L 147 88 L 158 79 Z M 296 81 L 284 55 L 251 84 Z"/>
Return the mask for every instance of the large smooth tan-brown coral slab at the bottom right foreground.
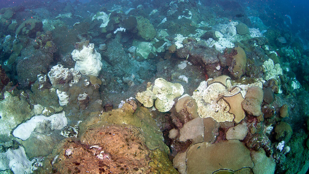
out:
<path id="1" fill-rule="evenodd" d="M 250 151 L 238 140 L 197 143 L 187 151 L 187 174 L 212 174 L 219 169 L 233 171 L 253 167 Z"/>

